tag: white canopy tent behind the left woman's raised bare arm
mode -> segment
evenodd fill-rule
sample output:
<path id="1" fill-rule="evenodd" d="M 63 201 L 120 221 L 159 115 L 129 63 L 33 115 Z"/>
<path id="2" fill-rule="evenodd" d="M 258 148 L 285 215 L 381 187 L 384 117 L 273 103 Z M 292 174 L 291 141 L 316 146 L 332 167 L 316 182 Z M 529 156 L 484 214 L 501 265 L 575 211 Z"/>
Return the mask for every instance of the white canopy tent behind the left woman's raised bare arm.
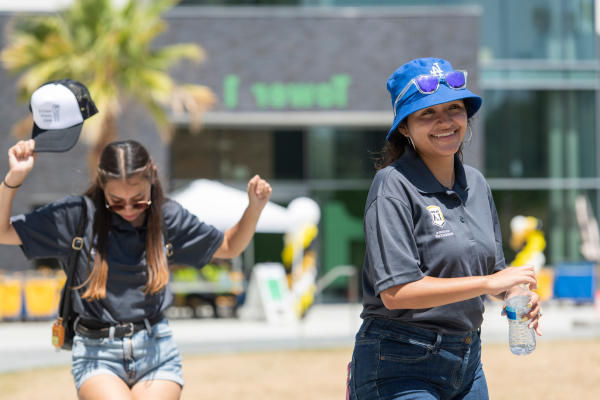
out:
<path id="1" fill-rule="evenodd" d="M 248 194 L 246 192 L 207 179 L 195 180 L 184 188 L 173 192 L 170 197 L 197 216 L 200 221 L 213 225 L 221 231 L 234 226 L 248 207 Z M 302 200 L 314 203 L 310 199 Z M 318 209 L 316 203 L 315 206 Z M 308 217 L 307 213 L 302 214 Z M 269 202 L 258 220 L 256 232 L 289 232 L 298 221 L 297 215 L 297 212 L 291 212 L 288 208 Z"/>

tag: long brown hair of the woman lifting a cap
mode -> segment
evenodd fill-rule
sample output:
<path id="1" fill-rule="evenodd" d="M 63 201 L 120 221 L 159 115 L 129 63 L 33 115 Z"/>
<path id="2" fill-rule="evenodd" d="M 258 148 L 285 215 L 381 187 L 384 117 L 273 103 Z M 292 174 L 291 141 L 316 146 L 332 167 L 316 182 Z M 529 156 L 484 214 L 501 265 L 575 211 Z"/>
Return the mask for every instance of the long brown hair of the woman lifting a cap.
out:
<path id="1" fill-rule="evenodd" d="M 148 179 L 152 203 L 146 210 L 147 236 L 146 236 L 146 265 L 148 268 L 148 282 L 144 293 L 154 294 L 161 291 L 169 282 L 169 270 L 162 243 L 162 204 L 164 193 L 160 180 L 157 178 L 152 157 L 140 143 L 133 140 L 112 142 L 102 151 L 96 180 L 90 185 L 85 196 L 92 199 L 96 206 L 94 215 L 92 248 L 95 250 L 94 266 L 89 278 L 78 287 L 87 285 L 85 293 L 81 296 L 88 301 L 99 300 L 106 297 L 106 279 L 108 276 L 107 252 L 109 243 L 109 229 L 111 212 L 106 208 L 104 187 L 114 179 L 123 182 L 129 179 Z M 88 270 L 89 259 L 88 257 Z"/>

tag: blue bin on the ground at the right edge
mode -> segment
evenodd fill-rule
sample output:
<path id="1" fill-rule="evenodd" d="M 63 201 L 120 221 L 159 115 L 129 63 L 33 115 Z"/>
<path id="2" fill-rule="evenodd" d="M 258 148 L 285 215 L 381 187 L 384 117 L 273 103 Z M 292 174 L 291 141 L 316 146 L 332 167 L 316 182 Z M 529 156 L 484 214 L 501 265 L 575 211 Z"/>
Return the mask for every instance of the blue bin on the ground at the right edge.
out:
<path id="1" fill-rule="evenodd" d="M 571 299 L 578 303 L 594 301 L 597 287 L 596 263 L 563 262 L 554 269 L 554 298 Z"/>

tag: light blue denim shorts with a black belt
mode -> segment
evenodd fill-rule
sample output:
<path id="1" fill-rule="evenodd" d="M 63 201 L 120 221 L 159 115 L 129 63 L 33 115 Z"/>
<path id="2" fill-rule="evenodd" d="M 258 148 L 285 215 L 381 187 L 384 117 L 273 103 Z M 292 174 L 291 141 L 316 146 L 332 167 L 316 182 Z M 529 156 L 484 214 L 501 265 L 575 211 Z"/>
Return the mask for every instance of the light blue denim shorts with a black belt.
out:
<path id="1" fill-rule="evenodd" d="M 138 382 L 167 380 L 183 387 L 181 357 L 167 319 L 131 337 L 110 340 L 75 335 L 73 368 L 77 390 L 96 375 L 120 378 L 130 388 Z"/>

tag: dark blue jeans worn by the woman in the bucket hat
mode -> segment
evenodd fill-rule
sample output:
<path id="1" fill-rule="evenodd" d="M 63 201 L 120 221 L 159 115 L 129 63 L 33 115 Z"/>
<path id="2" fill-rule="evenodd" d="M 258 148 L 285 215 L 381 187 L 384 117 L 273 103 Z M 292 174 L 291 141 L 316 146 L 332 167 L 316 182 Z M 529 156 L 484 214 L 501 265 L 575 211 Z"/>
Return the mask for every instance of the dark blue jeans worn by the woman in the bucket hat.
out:
<path id="1" fill-rule="evenodd" d="M 350 363 L 350 400 L 489 399 L 481 340 L 401 322 L 366 319 Z"/>

